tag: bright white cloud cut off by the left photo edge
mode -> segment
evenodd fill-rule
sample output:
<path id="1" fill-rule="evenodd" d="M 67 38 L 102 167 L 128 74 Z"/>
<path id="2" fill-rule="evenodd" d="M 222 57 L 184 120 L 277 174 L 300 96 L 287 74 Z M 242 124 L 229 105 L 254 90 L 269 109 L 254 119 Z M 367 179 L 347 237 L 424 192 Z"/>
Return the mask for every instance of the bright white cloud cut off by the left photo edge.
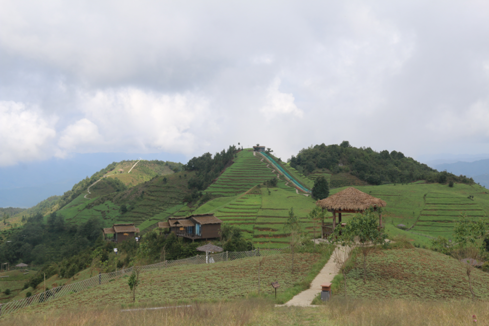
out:
<path id="1" fill-rule="evenodd" d="M 0 101 L 0 166 L 49 157 L 55 120 L 23 103 Z"/>

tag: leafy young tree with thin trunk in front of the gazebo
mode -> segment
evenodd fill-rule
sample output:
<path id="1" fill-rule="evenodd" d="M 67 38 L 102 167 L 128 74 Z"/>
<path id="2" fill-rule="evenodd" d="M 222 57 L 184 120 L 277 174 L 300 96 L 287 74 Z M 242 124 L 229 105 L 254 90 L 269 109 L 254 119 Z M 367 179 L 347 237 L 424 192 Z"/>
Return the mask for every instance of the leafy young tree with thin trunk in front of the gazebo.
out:
<path id="1" fill-rule="evenodd" d="M 333 239 L 334 237 L 343 239 L 345 245 L 354 241 L 357 243 L 363 255 L 363 283 L 367 282 L 368 255 L 376 250 L 378 244 L 384 244 L 387 238 L 377 221 L 373 208 L 369 208 L 363 214 L 356 214 L 345 227 L 335 228 L 332 235 Z"/>

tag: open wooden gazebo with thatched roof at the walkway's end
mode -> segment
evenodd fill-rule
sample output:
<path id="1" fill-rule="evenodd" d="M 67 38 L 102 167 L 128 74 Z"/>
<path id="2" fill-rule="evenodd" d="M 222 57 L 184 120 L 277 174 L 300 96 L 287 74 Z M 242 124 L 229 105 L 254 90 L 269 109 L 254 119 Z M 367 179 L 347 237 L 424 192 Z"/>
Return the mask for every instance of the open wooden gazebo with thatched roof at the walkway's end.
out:
<path id="1" fill-rule="evenodd" d="M 322 238 L 333 233 L 336 228 L 336 213 L 338 223 L 341 224 L 341 213 L 363 213 L 366 209 L 373 207 L 385 207 L 387 203 L 382 199 L 362 193 L 356 188 L 348 187 L 339 193 L 316 201 L 316 205 L 323 210 L 333 213 L 333 224 L 322 224 Z M 382 214 L 379 213 L 379 226 L 382 227 Z"/>

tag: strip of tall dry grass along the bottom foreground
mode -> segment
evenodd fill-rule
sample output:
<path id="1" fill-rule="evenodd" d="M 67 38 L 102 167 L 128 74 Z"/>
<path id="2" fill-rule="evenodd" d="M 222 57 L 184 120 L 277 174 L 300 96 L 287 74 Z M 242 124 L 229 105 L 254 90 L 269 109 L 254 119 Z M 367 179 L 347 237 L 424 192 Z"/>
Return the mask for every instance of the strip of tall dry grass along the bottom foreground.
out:
<path id="1" fill-rule="evenodd" d="M 473 322 L 472 315 L 477 322 Z M 334 298 L 317 308 L 274 307 L 262 299 L 122 312 L 120 309 L 24 314 L 9 326 L 462 326 L 488 325 L 487 302 Z"/>

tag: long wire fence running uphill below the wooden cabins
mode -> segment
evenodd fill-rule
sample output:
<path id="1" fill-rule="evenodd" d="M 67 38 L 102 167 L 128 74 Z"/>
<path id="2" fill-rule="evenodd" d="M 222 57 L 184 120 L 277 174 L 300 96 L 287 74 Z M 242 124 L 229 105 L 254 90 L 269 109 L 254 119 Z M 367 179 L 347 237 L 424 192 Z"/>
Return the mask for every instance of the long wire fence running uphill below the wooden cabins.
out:
<path id="1" fill-rule="evenodd" d="M 68 294 L 77 293 L 98 285 L 109 283 L 117 278 L 121 278 L 125 275 L 131 275 L 134 268 L 137 268 L 139 272 L 150 272 L 155 270 L 160 270 L 164 268 L 185 266 L 185 265 L 200 265 L 205 263 L 214 263 L 222 261 L 234 261 L 237 259 L 244 259 L 249 257 L 258 256 L 271 256 L 281 254 L 282 249 L 255 249 L 251 251 L 226 251 L 219 254 L 210 255 L 197 255 L 195 257 L 190 257 L 186 259 L 180 259 L 176 261 L 162 261 L 156 264 L 136 266 L 120 269 L 116 272 L 98 274 L 89 279 L 70 283 L 63 286 L 53 287 L 52 289 L 46 290 L 45 292 L 38 293 L 29 298 L 11 301 L 6 304 L 0 304 L 0 316 L 6 313 L 13 313 L 19 309 L 25 308 L 33 304 L 44 303 L 52 301 Z"/>

